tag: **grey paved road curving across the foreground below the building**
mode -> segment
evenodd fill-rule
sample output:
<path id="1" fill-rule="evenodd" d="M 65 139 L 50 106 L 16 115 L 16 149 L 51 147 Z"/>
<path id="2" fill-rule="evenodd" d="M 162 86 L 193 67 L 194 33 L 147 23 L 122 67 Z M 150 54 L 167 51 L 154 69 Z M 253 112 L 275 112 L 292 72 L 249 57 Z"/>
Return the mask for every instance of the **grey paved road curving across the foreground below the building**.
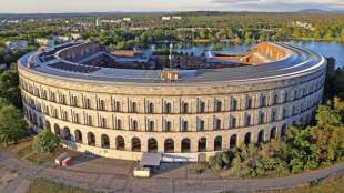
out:
<path id="1" fill-rule="evenodd" d="M 3 172 L 6 171 L 6 172 Z M 103 192 L 125 193 L 209 193 L 221 191 L 251 192 L 271 191 L 297 186 L 311 181 L 322 181 L 332 176 L 344 175 L 344 163 L 330 169 L 314 171 L 277 179 L 196 179 L 196 177 L 162 177 L 133 179 L 130 175 L 112 175 L 107 173 L 88 173 L 62 169 L 33 165 L 12 158 L 7 152 L 0 152 L 0 176 L 4 173 L 14 174 L 10 185 L 0 186 L 1 193 L 21 193 L 36 177 L 42 177 L 52 182 L 60 182 L 71 186 L 91 189 Z M 18 175 L 18 176 L 16 176 Z"/>

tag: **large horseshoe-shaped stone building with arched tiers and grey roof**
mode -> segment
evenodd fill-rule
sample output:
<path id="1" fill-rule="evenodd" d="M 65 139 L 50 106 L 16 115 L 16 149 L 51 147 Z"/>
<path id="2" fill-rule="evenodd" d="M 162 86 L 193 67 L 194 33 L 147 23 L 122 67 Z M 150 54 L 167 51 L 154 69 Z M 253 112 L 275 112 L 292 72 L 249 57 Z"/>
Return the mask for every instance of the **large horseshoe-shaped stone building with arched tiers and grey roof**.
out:
<path id="1" fill-rule="evenodd" d="M 284 135 L 322 102 L 326 62 L 305 49 L 264 42 L 245 54 L 171 58 L 92 42 L 28 53 L 18 63 L 27 119 L 82 152 L 196 161 Z"/>

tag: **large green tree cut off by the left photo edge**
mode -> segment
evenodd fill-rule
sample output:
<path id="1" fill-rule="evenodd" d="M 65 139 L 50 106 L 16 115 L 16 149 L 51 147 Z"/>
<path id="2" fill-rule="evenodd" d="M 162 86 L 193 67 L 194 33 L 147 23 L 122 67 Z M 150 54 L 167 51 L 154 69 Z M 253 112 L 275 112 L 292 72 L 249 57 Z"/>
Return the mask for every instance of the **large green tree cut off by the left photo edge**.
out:
<path id="1" fill-rule="evenodd" d="M 13 105 L 9 105 L 3 99 L 0 101 L 0 143 L 7 145 L 24 136 L 27 124 Z"/>

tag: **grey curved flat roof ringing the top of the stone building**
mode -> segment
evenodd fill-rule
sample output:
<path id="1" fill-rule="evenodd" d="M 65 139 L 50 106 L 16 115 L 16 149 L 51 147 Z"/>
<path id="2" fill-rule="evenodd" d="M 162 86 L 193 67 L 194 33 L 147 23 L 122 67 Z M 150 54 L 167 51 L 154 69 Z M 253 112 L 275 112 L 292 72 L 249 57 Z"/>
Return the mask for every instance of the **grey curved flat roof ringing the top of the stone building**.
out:
<path id="1" fill-rule="evenodd" d="M 315 70 L 326 67 L 324 57 L 307 49 L 297 48 L 287 43 L 274 43 L 286 52 L 282 60 L 262 63 L 260 65 L 235 67 L 223 69 L 200 69 L 195 75 L 185 75 L 173 82 L 174 85 L 191 85 L 200 83 L 229 83 L 229 82 L 250 82 L 257 80 L 283 79 L 297 77 L 304 73 L 312 73 Z M 68 49 L 68 48 L 67 48 Z M 85 81 L 97 83 L 131 84 L 135 85 L 170 85 L 170 82 L 160 78 L 162 70 L 134 70 L 99 68 L 90 73 L 78 73 L 64 71 L 49 65 L 51 62 L 42 62 L 37 55 L 40 53 L 29 53 L 19 60 L 19 68 L 39 73 L 41 75 L 67 79 L 73 81 Z M 34 58 L 36 65 L 28 68 L 27 63 Z M 61 59 L 58 59 L 61 60 Z M 65 61 L 69 62 L 69 61 Z M 71 62 L 70 62 L 71 63 Z M 181 73 L 188 71 L 179 70 Z"/>

